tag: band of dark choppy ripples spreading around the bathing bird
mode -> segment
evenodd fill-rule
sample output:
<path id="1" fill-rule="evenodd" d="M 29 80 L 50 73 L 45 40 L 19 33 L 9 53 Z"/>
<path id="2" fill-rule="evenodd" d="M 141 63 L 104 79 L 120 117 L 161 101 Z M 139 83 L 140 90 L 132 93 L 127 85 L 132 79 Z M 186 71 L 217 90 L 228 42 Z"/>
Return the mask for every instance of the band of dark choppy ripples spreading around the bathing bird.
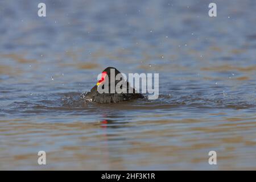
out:
<path id="1" fill-rule="evenodd" d="M 51 100 L 41 100 L 38 98 L 48 98 Z M 208 98 L 202 93 L 191 94 L 188 96 L 171 96 L 160 95 L 158 100 L 148 100 L 147 98 L 126 101 L 112 104 L 97 104 L 87 102 L 82 99 L 80 92 L 69 93 L 54 93 L 43 96 L 28 96 L 28 100 L 22 102 L 11 102 L 6 108 L 1 110 L 2 114 L 84 114 L 84 113 L 98 113 L 99 109 L 105 110 L 119 110 L 119 111 L 133 111 L 139 114 L 142 110 L 154 110 L 154 112 L 161 112 L 166 110 L 180 111 L 180 110 L 194 110 L 211 111 L 212 109 L 254 109 L 256 107 L 255 101 L 253 104 L 241 101 L 241 99 L 233 98 Z M 24 100 L 27 100 L 24 98 Z M 204 112 L 205 112 L 204 111 Z"/>

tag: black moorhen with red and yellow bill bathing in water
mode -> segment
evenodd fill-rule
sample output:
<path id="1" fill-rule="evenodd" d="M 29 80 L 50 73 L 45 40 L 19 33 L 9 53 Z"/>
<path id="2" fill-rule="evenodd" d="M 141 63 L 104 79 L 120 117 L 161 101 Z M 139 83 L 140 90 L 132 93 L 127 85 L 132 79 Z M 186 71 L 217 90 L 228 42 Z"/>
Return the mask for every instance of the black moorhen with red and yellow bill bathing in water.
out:
<path id="1" fill-rule="evenodd" d="M 129 82 L 124 81 L 123 85 L 127 85 L 127 92 L 126 93 L 117 93 L 116 90 L 114 90 L 114 93 L 110 93 L 110 84 L 111 80 L 114 80 L 114 86 L 118 84 L 119 81 L 122 81 L 123 77 L 121 77 L 120 80 L 115 80 L 115 78 L 110 78 L 110 71 L 113 69 L 115 72 L 115 76 L 120 73 L 117 69 L 113 67 L 108 67 L 104 69 L 104 71 L 101 73 L 101 80 L 97 82 L 95 86 L 90 90 L 90 92 L 85 93 L 82 95 L 82 98 L 84 98 L 86 101 L 90 102 L 97 102 L 100 104 L 108 104 L 111 102 L 122 102 L 122 101 L 129 101 L 129 100 L 135 100 L 137 98 L 144 98 L 144 96 L 141 93 L 138 93 L 134 88 L 131 88 Z M 113 72 L 112 71 L 112 72 Z M 106 76 L 108 76 L 108 80 L 106 82 L 109 82 L 109 92 L 108 93 L 99 93 L 97 88 L 98 86 L 102 86 L 102 89 L 104 89 L 104 86 L 106 84 Z M 121 86 L 122 89 L 122 86 Z M 129 93 L 129 89 L 133 90 L 132 93 Z"/>

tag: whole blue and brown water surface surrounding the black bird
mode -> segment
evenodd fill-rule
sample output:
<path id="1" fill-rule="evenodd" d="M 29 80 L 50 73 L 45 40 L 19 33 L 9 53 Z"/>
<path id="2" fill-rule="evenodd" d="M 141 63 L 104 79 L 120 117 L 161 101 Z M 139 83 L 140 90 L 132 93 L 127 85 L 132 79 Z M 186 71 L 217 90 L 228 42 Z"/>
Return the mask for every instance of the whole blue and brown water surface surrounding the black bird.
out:
<path id="1" fill-rule="evenodd" d="M 210 2 L 0 1 L 0 169 L 256 169 L 256 1 Z M 85 103 L 108 66 L 159 99 Z"/>

